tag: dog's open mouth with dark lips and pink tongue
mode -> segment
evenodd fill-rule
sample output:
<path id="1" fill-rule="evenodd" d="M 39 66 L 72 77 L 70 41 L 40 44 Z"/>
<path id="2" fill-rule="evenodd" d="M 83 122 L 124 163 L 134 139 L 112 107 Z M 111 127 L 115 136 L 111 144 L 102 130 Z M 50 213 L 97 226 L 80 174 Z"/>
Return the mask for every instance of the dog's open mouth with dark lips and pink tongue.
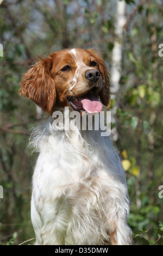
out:
<path id="1" fill-rule="evenodd" d="M 86 111 L 87 113 L 99 113 L 102 111 L 102 103 L 96 99 L 91 91 L 82 96 L 68 96 L 69 105 L 75 111 Z"/>

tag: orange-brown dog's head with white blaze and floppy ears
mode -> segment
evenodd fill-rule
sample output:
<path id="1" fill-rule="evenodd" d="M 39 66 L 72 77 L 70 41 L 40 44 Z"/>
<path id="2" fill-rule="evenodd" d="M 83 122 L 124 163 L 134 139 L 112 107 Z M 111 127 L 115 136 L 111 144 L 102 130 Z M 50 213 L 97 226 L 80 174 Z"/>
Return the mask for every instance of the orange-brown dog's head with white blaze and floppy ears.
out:
<path id="1" fill-rule="evenodd" d="M 55 107 L 88 113 L 109 104 L 109 73 L 104 60 L 93 50 L 79 48 L 52 53 L 23 76 L 19 94 L 28 97 L 47 114 Z"/>

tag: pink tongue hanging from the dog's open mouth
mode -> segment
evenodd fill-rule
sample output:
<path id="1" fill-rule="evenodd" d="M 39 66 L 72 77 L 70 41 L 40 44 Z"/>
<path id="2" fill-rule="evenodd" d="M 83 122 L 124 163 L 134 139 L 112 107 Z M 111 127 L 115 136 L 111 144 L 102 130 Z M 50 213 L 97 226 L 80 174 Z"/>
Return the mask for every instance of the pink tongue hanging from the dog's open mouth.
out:
<path id="1" fill-rule="evenodd" d="M 95 96 L 90 94 L 89 96 L 83 96 L 79 98 L 82 102 L 83 108 L 87 113 L 99 113 L 102 111 L 103 105 Z"/>

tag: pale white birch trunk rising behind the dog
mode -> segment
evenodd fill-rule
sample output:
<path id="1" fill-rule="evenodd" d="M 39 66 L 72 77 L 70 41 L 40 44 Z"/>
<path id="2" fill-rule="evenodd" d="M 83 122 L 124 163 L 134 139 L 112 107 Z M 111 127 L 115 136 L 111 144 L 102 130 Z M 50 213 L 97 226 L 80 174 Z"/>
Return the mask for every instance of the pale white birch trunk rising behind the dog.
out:
<path id="1" fill-rule="evenodd" d="M 112 108 L 112 123 L 116 123 L 115 114 L 117 111 L 118 103 L 116 96 L 120 90 L 120 78 L 121 78 L 121 68 L 122 68 L 122 44 L 123 44 L 123 26 L 126 24 L 126 2 L 117 1 L 117 11 L 116 11 L 116 29 L 115 35 L 116 40 L 114 42 L 114 48 L 112 50 L 112 68 L 111 68 L 111 98 L 115 100 L 115 105 Z M 111 131 L 112 139 L 117 141 L 118 132 L 117 128 L 114 127 Z"/>

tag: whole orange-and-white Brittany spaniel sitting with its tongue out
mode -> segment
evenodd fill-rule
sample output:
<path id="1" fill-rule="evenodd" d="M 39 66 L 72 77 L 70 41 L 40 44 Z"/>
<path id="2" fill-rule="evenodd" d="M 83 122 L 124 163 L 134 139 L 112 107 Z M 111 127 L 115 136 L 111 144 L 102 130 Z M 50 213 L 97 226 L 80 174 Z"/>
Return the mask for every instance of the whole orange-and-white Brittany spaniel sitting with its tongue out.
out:
<path id="1" fill-rule="evenodd" d="M 109 137 L 71 122 L 53 125 L 53 113 L 65 117 L 65 107 L 81 119 L 99 115 L 109 87 L 104 60 L 91 49 L 54 52 L 23 76 L 19 94 L 49 115 L 32 141 L 39 152 L 31 201 L 37 245 L 131 244 L 126 177 Z"/>

